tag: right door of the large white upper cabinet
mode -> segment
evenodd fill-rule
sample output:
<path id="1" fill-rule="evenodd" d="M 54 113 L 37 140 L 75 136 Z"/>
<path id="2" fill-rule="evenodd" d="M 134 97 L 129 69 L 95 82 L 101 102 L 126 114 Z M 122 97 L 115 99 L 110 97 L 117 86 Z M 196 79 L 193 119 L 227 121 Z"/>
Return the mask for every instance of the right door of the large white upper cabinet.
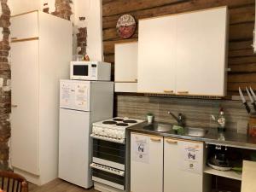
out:
<path id="1" fill-rule="evenodd" d="M 224 96 L 227 9 L 176 17 L 177 94 Z"/>

